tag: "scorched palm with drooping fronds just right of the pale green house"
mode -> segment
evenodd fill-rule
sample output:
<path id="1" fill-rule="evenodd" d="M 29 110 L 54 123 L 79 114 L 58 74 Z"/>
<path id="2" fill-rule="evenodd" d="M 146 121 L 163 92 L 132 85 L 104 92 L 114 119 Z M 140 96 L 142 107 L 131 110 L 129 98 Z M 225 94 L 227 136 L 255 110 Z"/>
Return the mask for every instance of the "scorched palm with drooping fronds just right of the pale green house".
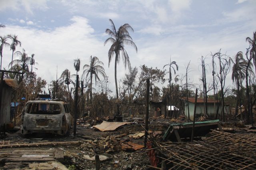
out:
<path id="1" fill-rule="evenodd" d="M 240 105 L 240 113 L 242 114 L 242 111 L 241 111 L 242 104 L 241 104 L 241 98 L 240 98 L 240 86 L 242 84 L 242 81 L 245 78 L 246 67 L 247 67 L 248 61 L 246 61 L 244 59 L 242 51 L 239 51 L 236 54 L 236 56 L 234 57 L 234 59 L 229 58 L 229 63 L 233 64 L 231 78 L 233 80 L 233 83 L 234 82 L 236 83 L 236 87 L 237 87 L 235 115 L 238 114 L 238 102 L 239 102 L 239 105 Z M 252 71 L 252 64 L 250 64 L 250 67 L 248 68 L 248 71 L 253 72 Z"/>

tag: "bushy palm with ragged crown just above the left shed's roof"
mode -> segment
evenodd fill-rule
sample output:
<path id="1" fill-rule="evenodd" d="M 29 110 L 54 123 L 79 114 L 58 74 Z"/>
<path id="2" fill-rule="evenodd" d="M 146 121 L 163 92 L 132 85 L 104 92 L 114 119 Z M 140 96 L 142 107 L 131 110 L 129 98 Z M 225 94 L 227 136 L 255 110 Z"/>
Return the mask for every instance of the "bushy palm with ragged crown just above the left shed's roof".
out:
<path id="1" fill-rule="evenodd" d="M 27 74 L 29 72 L 29 68 L 28 68 L 28 64 L 30 63 L 31 61 L 31 57 L 28 57 L 28 54 L 26 54 L 26 51 L 24 49 L 22 49 L 22 52 L 20 51 L 16 51 L 14 54 L 17 54 L 17 55 L 20 55 L 20 58 L 19 59 L 16 59 L 16 60 L 13 60 L 10 64 L 9 64 L 9 67 L 10 65 L 12 64 L 18 64 L 21 66 L 22 68 L 22 76 L 21 76 L 21 81 L 23 80 L 23 75 L 24 74 Z M 12 67 L 11 67 L 12 69 Z"/>

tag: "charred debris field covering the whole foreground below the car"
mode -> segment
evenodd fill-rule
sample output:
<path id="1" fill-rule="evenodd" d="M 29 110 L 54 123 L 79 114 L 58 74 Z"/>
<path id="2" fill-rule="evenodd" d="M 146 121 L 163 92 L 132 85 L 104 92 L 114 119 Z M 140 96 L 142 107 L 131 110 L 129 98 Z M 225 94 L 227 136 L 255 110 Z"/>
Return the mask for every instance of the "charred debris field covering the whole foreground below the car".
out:
<path id="1" fill-rule="evenodd" d="M 76 136 L 24 136 L 12 129 L 0 141 L 0 169 L 256 169 L 256 130 L 242 122 L 200 117 L 191 142 L 192 124 L 183 116 L 150 117 L 148 130 L 144 119 L 124 121 L 77 119 Z"/>

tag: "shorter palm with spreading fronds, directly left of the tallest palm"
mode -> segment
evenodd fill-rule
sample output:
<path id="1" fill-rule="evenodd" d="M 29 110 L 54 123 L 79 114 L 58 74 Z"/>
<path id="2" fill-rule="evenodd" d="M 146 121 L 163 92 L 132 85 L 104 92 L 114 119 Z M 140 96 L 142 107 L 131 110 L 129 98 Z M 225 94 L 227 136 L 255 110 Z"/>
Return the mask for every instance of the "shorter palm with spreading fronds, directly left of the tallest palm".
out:
<path id="1" fill-rule="evenodd" d="M 92 103 L 92 77 L 94 75 L 94 78 L 95 78 L 95 86 L 96 86 L 96 83 L 97 83 L 97 80 L 100 81 L 100 78 L 99 78 L 99 74 L 102 75 L 103 78 L 106 77 L 106 73 L 105 73 L 105 70 L 103 68 L 103 66 L 101 65 L 104 65 L 102 63 L 102 61 L 99 61 L 98 57 L 90 57 L 90 65 L 88 64 L 85 64 L 84 65 L 84 74 L 86 74 L 86 78 L 89 76 L 90 74 L 90 103 Z"/>

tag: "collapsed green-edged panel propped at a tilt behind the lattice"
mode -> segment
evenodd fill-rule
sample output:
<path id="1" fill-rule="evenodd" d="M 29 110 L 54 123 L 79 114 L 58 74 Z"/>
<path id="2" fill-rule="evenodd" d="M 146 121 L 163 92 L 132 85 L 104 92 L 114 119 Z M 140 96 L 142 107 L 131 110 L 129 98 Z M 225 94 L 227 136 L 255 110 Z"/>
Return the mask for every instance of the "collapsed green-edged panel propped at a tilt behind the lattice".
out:
<path id="1" fill-rule="evenodd" d="M 193 122 L 170 124 L 165 132 L 163 139 L 170 141 L 181 141 L 181 138 L 190 138 L 192 134 Z M 219 127 L 219 120 L 195 122 L 195 137 L 204 136 L 210 129 Z M 174 130 L 175 129 L 175 130 Z"/>

